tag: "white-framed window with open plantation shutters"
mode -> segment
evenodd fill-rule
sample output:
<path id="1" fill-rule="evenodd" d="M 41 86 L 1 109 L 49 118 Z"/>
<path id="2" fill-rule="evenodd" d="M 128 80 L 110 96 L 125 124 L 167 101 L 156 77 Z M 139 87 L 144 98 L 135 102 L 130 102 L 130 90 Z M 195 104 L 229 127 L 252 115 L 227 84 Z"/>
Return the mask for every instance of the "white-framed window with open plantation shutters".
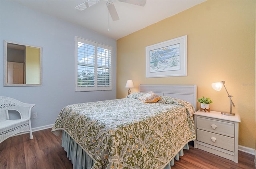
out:
<path id="1" fill-rule="evenodd" d="M 112 90 L 112 47 L 76 37 L 76 91 Z"/>

